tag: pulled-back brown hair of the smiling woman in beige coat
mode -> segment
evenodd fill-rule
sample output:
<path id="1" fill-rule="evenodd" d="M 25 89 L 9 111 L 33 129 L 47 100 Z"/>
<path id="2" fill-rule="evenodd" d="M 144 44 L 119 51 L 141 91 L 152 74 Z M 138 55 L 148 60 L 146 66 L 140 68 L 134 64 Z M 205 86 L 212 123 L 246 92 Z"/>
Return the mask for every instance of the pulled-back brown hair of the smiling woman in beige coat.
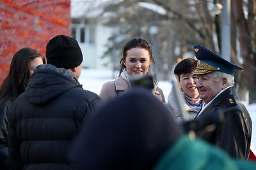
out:
<path id="1" fill-rule="evenodd" d="M 120 68 L 118 70 L 119 76 L 121 75 L 122 71 L 126 68 L 123 61 L 126 59 L 127 51 L 131 50 L 132 48 L 143 48 L 148 51 L 149 59 L 154 65 L 154 57 L 152 55 L 152 46 L 148 43 L 147 40 L 143 38 L 132 38 L 130 41 L 125 43 L 124 49 L 123 49 L 123 57 L 120 60 Z"/>

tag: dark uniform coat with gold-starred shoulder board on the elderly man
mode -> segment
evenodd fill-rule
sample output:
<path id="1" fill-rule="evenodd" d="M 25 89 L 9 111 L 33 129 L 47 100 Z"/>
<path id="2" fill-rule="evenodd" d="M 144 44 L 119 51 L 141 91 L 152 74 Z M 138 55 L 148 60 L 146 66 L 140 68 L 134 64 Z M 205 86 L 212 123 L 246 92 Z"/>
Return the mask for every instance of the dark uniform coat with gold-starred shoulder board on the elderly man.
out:
<path id="1" fill-rule="evenodd" d="M 218 111 L 223 113 L 225 119 L 216 128 L 206 127 L 204 131 L 196 132 L 196 135 L 220 146 L 231 157 L 247 159 L 252 138 L 252 120 L 234 87 L 223 91 L 196 119 L 214 117 Z"/>

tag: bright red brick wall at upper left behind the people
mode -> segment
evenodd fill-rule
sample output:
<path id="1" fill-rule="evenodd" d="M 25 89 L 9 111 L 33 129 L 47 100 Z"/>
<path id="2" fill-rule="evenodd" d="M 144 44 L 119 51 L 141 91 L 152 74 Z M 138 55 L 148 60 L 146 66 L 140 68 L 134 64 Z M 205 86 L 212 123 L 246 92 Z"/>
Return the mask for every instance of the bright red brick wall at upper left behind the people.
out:
<path id="1" fill-rule="evenodd" d="M 31 47 L 45 54 L 49 39 L 70 36 L 70 0 L 0 1 L 0 83 L 17 50 Z"/>

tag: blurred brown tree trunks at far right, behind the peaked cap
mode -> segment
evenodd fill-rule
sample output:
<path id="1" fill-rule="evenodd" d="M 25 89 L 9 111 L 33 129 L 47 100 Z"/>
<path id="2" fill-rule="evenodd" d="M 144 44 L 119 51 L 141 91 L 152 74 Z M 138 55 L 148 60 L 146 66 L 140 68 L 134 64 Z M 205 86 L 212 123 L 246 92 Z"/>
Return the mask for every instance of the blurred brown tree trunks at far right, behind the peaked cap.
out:
<path id="1" fill-rule="evenodd" d="M 256 53 L 255 53 L 255 14 L 256 1 L 249 0 L 247 4 L 248 16 L 244 17 L 243 1 L 232 1 L 234 8 L 234 17 L 239 29 L 239 42 L 241 46 L 241 55 L 244 61 L 244 73 L 242 82 L 249 92 L 249 103 L 256 103 Z"/>

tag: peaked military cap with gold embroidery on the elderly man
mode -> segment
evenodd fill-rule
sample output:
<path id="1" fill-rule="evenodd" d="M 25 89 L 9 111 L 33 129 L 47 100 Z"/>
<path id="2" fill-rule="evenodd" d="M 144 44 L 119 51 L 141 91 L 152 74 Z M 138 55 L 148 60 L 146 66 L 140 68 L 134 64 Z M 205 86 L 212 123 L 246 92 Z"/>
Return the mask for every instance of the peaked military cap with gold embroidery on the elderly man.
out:
<path id="1" fill-rule="evenodd" d="M 212 71 L 221 71 L 223 73 L 233 75 L 234 69 L 244 70 L 242 67 L 228 62 L 218 54 L 211 52 L 211 50 L 208 50 L 202 45 L 195 45 L 194 52 L 196 59 L 199 60 L 194 74 L 207 74 L 211 73 Z"/>

